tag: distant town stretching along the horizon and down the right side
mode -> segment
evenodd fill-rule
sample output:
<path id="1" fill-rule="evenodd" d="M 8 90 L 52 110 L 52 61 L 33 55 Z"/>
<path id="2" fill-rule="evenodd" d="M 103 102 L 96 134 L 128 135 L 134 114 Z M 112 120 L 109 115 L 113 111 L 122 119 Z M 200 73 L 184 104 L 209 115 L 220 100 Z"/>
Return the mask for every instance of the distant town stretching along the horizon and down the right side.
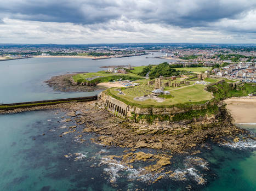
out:
<path id="1" fill-rule="evenodd" d="M 161 52 L 162 55 L 155 56 L 154 52 Z M 35 56 L 79 56 L 106 59 L 141 55 L 148 55 L 146 58 L 172 59 L 174 62 L 170 64 L 174 68 L 210 67 L 212 75 L 256 82 L 255 44 L 0 44 L 0 61 Z M 122 70 L 122 73 L 124 72 Z"/>

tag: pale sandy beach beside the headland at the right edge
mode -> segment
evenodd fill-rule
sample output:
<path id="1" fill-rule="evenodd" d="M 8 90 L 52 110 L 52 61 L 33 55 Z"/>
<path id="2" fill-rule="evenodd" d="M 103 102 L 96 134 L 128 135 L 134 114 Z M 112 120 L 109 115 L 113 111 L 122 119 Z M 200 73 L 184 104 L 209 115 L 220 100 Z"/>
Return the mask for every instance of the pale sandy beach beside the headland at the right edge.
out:
<path id="1" fill-rule="evenodd" d="M 224 100 L 236 123 L 256 123 L 256 97 Z"/>

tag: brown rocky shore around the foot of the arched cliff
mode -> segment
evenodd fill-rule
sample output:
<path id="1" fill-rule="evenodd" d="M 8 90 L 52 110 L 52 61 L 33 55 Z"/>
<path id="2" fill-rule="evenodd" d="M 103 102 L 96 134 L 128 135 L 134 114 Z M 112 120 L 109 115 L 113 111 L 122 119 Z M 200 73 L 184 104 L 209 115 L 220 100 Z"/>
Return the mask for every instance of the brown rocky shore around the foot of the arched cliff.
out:
<path id="1" fill-rule="evenodd" d="M 42 109 L 60 109 L 66 112 L 67 122 L 74 121 L 77 126 L 83 126 L 81 134 L 95 133 L 93 142 L 107 147 L 120 146 L 132 150 L 136 148 L 152 148 L 167 150 L 171 153 L 200 152 L 200 148 L 211 140 L 218 144 L 240 139 L 255 139 L 247 130 L 236 127 L 233 118 L 225 108 L 220 109 L 220 115 L 216 119 L 197 123 L 175 124 L 141 124 L 123 120 L 106 111 L 100 100 L 84 103 L 64 103 L 49 106 L 37 106 L 34 108 L 0 111 L 0 114 L 8 114 L 23 111 Z M 76 131 L 76 126 L 60 135 Z"/>

